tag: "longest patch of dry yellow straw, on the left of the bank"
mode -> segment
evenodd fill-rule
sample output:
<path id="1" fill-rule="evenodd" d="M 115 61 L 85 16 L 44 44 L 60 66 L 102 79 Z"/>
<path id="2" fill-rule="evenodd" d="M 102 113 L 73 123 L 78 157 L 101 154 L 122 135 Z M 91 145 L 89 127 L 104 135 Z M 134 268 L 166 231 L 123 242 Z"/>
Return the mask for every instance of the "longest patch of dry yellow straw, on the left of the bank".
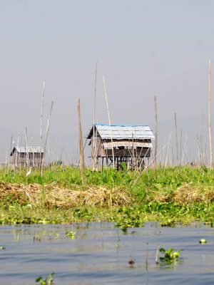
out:
<path id="1" fill-rule="evenodd" d="M 133 197 L 123 188 L 108 189 L 101 186 L 73 185 L 73 189 L 62 189 L 56 183 L 51 185 L 18 185 L 10 183 L 0 184 L 0 199 L 6 197 L 16 199 L 20 204 L 35 204 L 39 207 L 77 207 L 80 205 L 110 207 L 127 205 Z"/>

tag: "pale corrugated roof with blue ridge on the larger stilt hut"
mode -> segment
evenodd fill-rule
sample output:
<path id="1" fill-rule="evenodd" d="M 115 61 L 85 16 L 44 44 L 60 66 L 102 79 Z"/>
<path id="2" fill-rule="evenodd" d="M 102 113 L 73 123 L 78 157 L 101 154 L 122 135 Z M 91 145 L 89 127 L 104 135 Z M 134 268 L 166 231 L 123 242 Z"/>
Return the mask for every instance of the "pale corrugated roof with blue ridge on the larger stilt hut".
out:
<path id="1" fill-rule="evenodd" d="M 155 136 L 151 128 L 148 125 L 107 125 L 107 124 L 95 124 L 98 134 L 103 140 L 145 140 L 154 139 Z M 88 135 L 91 138 L 93 135 L 93 128 Z"/>

